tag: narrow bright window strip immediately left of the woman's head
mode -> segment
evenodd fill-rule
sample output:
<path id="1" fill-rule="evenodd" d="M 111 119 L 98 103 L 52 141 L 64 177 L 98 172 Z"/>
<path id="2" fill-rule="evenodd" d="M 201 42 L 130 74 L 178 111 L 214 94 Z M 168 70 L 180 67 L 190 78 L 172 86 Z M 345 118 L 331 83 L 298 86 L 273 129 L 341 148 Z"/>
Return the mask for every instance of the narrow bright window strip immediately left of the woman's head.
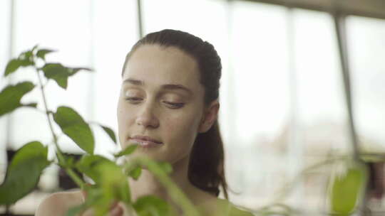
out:
<path id="1" fill-rule="evenodd" d="M 111 127 L 118 139 L 116 109 L 125 55 L 138 40 L 136 1 L 119 0 L 113 4 L 98 0 L 94 4 L 93 42 L 93 121 Z M 100 128 L 95 127 L 96 153 L 107 156 L 116 146 Z"/>

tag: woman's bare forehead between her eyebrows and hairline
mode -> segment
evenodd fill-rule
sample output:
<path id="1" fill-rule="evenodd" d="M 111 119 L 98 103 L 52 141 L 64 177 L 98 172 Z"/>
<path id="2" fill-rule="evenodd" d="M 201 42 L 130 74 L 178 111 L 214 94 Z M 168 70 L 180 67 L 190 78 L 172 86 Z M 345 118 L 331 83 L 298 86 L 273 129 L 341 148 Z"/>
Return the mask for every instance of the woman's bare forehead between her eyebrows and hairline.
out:
<path id="1" fill-rule="evenodd" d="M 123 80 L 133 78 L 153 85 L 178 84 L 199 88 L 200 75 L 193 57 L 175 47 L 142 45 L 130 56 Z"/>

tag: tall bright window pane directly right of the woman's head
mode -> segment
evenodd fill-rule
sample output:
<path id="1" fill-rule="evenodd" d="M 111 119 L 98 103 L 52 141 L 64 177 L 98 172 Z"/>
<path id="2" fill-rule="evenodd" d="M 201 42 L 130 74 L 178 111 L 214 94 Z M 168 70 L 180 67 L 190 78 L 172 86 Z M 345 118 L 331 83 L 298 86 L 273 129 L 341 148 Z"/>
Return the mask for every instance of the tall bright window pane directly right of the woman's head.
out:
<path id="1" fill-rule="evenodd" d="M 252 21 L 252 22 L 251 22 Z M 257 207 L 284 178 L 279 146 L 273 144 L 288 119 L 289 80 L 285 8 L 235 1 L 232 4 L 232 139 L 227 151 L 232 199 Z M 283 140 L 285 144 L 287 139 Z M 283 162 L 283 161 L 282 161 Z"/>

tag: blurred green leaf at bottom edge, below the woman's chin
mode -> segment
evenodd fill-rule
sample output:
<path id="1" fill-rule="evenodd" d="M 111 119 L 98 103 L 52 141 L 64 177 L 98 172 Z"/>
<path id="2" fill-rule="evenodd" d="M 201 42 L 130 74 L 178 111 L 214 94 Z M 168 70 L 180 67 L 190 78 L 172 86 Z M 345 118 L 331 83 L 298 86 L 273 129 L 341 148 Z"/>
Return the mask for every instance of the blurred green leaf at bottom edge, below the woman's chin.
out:
<path id="1" fill-rule="evenodd" d="M 155 197 L 154 195 L 146 195 L 138 198 L 133 207 L 139 216 L 161 216 L 173 215 L 173 210 L 165 200 Z"/>

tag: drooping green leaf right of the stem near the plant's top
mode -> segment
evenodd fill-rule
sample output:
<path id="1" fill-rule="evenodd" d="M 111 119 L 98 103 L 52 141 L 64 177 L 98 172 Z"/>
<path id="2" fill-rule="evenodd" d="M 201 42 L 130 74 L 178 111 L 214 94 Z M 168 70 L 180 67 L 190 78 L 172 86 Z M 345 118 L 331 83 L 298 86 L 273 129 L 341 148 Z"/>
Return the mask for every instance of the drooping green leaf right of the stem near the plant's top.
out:
<path id="1" fill-rule="evenodd" d="M 55 80 L 60 87 L 66 90 L 68 77 L 71 75 L 69 68 L 64 67 L 61 63 L 46 63 L 41 70 L 47 79 Z"/>

